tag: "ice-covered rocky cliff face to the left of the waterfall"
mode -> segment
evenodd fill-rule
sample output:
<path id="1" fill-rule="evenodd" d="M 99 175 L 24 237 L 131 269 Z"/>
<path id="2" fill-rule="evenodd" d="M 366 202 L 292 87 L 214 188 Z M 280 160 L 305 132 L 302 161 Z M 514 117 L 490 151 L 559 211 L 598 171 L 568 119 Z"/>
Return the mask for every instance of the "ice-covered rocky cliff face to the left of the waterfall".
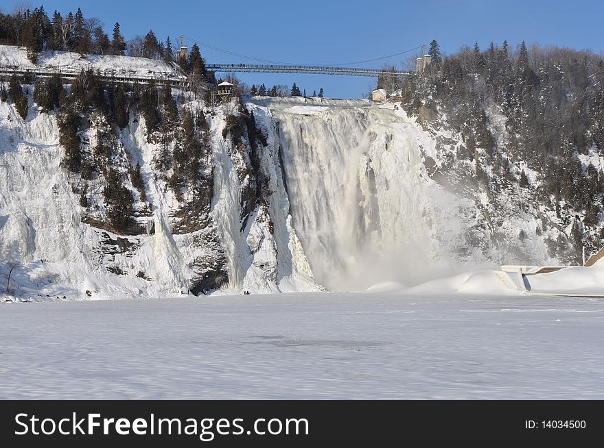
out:
<path id="1" fill-rule="evenodd" d="M 275 145 L 272 139 L 257 145 L 259 162 L 252 166 L 247 136 L 233 142 L 223 133 L 233 110 L 191 99 L 184 105 L 207 114 L 209 153 L 200 164 L 213 179 L 202 190 L 211 197 L 207 210 L 189 206 L 201 201 L 186 188 L 176 197 L 166 173 L 156 168 L 163 147 L 150 141 L 142 116 L 115 130 L 112 166 L 126 173 L 121 179 L 143 224 L 138 232 L 116 234 L 103 221 L 106 179 L 84 180 L 67 171 L 55 112 L 38 112 L 31 101 L 30 95 L 25 121 L 12 104 L 0 103 L 0 296 L 9 264 L 15 267 L 6 297 L 21 299 L 321 289 L 291 225 Z M 86 160 L 94 160 L 101 122 L 92 119 L 80 132 Z M 137 163 L 146 200 L 128 180 Z M 267 183 L 262 194 L 253 188 L 260 173 Z"/>

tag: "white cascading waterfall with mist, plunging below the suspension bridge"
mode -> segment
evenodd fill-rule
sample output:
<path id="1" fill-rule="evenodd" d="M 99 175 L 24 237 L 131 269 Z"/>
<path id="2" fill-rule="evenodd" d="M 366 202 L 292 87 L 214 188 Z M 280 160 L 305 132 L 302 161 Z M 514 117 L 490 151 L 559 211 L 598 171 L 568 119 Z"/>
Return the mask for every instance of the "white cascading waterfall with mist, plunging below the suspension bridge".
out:
<path id="1" fill-rule="evenodd" d="M 331 290 L 413 284 L 461 238 L 471 207 L 425 175 L 434 139 L 393 105 L 261 100 L 278 121 L 290 213 L 314 276 Z M 436 262 L 435 262 L 436 260 Z"/>

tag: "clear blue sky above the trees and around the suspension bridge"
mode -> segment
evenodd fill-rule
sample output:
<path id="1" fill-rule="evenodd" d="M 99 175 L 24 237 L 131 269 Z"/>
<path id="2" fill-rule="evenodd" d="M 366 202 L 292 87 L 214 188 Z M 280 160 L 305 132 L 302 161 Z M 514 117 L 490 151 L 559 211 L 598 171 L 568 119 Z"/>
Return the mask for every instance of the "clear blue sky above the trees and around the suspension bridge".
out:
<path id="1" fill-rule="evenodd" d="M 10 12 L 12 1 L 0 8 Z M 439 42 L 443 53 L 478 42 L 486 48 L 493 41 L 511 47 L 559 45 L 574 49 L 604 50 L 604 1 L 557 0 L 380 0 L 329 1 L 167 1 L 98 0 L 32 1 L 44 5 L 49 16 L 65 16 L 78 6 L 84 16 L 97 16 L 110 35 L 119 21 L 126 40 L 153 29 L 159 40 L 181 34 L 199 42 L 254 58 L 298 64 L 343 64 L 399 53 L 419 45 Z M 185 45 L 191 46 L 191 40 Z M 200 45 L 207 62 L 252 63 Z M 406 53 L 389 60 L 357 64 L 379 68 L 384 63 L 401 66 Z M 375 86 L 375 78 L 329 75 L 244 74 L 249 84 L 293 82 L 311 95 L 323 87 L 332 98 L 362 97 Z"/>

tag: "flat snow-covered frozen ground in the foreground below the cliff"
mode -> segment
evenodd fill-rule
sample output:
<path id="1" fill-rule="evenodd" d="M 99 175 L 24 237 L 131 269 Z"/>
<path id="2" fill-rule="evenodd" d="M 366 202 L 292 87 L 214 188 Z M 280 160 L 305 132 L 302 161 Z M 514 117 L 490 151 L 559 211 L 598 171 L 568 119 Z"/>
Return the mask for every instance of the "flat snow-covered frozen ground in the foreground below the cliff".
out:
<path id="1" fill-rule="evenodd" d="M 603 299 L 61 301 L 0 328 L 1 399 L 604 398 Z"/>

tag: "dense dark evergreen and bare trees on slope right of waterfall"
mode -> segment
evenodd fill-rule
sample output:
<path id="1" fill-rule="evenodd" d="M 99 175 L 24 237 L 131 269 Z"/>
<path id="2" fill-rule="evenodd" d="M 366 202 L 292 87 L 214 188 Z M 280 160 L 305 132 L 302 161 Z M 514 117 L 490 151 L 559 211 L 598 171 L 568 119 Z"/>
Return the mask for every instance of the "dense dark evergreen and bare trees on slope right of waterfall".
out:
<path id="1" fill-rule="evenodd" d="M 578 216 L 575 236 L 596 227 L 604 209 L 604 175 L 589 160 L 604 155 L 604 59 L 592 51 L 525 42 L 514 50 L 505 41 L 443 55 L 433 40 L 428 53 L 432 63 L 402 86 L 408 112 L 447 116 L 464 140 L 458 155 L 480 159 L 476 175 L 483 184 L 493 187 L 485 175 L 491 166 L 496 177 L 555 204 L 563 219 Z M 499 144 L 493 112 L 505 120 Z M 534 185 L 524 171 L 514 171 L 512 164 L 521 161 L 538 173 Z"/>

